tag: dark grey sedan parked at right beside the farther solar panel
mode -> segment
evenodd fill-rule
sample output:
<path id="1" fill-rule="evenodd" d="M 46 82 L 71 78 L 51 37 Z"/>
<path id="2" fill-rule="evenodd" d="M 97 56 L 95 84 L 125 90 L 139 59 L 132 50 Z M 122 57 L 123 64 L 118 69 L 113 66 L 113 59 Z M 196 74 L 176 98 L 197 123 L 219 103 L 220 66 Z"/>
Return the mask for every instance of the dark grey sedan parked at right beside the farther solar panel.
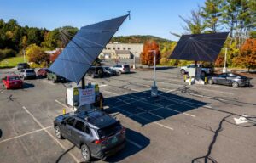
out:
<path id="1" fill-rule="evenodd" d="M 208 78 L 209 84 L 222 84 L 232 87 L 250 86 L 250 79 L 233 73 L 222 73 Z"/>

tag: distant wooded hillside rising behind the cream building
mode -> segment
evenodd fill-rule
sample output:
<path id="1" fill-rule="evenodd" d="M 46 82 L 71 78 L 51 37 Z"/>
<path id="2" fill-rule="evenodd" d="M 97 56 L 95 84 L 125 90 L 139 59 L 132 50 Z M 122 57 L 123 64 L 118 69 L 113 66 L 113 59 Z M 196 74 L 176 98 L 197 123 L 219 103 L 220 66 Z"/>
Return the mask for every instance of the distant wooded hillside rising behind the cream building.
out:
<path id="1" fill-rule="evenodd" d="M 172 42 L 171 40 L 167 40 L 165 38 L 154 37 L 151 35 L 132 35 L 126 37 L 113 37 L 111 42 L 122 42 L 122 43 L 144 43 L 148 40 L 154 40 L 158 43 L 167 43 Z"/>

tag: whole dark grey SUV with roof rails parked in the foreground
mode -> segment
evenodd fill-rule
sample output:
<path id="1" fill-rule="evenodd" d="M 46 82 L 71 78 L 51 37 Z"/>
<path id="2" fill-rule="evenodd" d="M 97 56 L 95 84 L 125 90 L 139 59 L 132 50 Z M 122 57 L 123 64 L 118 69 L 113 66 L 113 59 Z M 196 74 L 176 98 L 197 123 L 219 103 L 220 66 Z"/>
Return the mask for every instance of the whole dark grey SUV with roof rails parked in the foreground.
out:
<path id="1" fill-rule="evenodd" d="M 125 127 L 100 111 L 67 113 L 55 118 L 55 136 L 81 149 L 85 161 L 102 159 L 125 147 Z"/>

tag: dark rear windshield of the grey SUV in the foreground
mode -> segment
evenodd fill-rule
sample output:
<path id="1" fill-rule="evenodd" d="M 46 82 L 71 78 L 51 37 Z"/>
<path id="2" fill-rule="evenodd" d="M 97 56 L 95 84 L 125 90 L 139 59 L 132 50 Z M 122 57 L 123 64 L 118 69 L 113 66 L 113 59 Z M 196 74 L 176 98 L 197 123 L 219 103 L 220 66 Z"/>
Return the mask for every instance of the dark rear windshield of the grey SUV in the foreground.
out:
<path id="1" fill-rule="evenodd" d="M 120 125 L 120 122 L 117 121 L 110 126 L 99 129 L 97 132 L 100 138 L 108 138 L 114 135 L 115 133 L 119 132 L 121 129 L 122 129 L 122 126 Z"/>

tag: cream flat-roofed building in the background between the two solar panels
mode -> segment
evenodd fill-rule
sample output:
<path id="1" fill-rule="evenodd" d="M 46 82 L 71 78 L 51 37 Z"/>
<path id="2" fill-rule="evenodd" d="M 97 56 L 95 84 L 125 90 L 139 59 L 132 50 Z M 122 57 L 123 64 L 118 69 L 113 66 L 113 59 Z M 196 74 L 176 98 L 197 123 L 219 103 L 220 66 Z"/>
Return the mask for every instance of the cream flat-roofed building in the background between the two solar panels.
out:
<path id="1" fill-rule="evenodd" d="M 100 53 L 100 59 L 133 59 L 143 52 L 143 43 L 108 43 Z"/>

